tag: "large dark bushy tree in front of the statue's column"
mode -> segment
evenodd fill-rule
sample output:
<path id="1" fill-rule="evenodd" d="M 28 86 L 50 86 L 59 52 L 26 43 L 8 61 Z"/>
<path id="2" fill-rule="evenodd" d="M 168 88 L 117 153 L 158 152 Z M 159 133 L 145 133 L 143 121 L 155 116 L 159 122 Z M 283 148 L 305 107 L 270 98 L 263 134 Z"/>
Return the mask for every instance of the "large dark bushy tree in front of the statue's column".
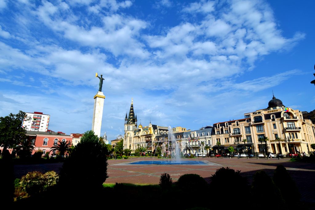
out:
<path id="1" fill-rule="evenodd" d="M 103 188 L 107 176 L 107 147 L 93 131 L 84 133 L 59 173 L 59 189 L 76 193 L 79 199 L 92 198 Z M 71 187 L 69 185 L 71 184 Z"/>

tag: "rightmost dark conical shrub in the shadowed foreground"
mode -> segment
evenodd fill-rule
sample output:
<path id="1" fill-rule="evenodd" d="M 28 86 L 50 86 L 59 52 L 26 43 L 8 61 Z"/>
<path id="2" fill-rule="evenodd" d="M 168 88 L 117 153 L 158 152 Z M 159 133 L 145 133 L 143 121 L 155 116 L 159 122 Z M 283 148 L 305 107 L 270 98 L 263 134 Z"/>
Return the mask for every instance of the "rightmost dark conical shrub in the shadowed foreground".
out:
<path id="1" fill-rule="evenodd" d="M 273 182 L 279 188 L 282 197 L 284 198 L 284 201 L 287 203 L 287 205 L 289 205 L 290 207 L 292 207 L 292 205 L 298 207 L 301 194 L 299 193 L 299 190 L 295 182 L 292 180 L 287 169 L 283 165 L 277 166 L 273 174 Z M 292 204 L 291 202 L 292 192 L 294 192 L 294 204 Z"/>

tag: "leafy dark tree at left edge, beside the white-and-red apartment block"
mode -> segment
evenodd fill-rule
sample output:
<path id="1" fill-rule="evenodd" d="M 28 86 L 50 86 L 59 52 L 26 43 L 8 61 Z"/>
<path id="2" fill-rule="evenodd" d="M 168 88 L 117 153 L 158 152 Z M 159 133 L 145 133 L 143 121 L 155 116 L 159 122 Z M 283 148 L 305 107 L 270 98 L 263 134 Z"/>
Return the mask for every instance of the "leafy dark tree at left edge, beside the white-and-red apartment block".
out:
<path id="1" fill-rule="evenodd" d="M 26 130 L 22 128 L 25 116 L 25 112 L 19 111 L 17 114 L 10 113 L 8 116 L 0 117 L 0 146 L 3 147 L 3 151 L 16 147 L 26 139 Z"/>

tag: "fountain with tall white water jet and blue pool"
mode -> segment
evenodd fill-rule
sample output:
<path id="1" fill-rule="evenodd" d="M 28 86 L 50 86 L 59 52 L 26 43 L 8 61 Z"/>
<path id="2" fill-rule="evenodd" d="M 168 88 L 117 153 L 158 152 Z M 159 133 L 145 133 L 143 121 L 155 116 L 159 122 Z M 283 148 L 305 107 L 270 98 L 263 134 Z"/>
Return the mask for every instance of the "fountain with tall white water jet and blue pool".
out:
<path id="1" fill-rule="evenodd" d="M 183 161 L 181 160 L 180 155 L 180 145 L 176 142 L 176 138 L 174 133 L 172 132 L 172 128 L 169 126 L 169 135 L 168 135 L 168 151 L 171 158 L 168 158 L 168 161 L 165 160 L 156 160 L 154 161 L 154 156 L 152 161 L 135 161 L 129 164 L 135 165 L 209 165 L 209 163 L 198 161 L 195 157 L 195 161 Z"/>

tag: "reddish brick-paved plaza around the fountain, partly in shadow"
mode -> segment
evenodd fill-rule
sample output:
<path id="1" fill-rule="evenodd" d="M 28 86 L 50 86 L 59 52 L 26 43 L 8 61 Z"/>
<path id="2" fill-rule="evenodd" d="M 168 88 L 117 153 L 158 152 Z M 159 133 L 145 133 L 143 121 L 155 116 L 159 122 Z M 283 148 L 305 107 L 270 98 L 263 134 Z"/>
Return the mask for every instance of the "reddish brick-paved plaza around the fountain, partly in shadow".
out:
<path id="1" fill-rule="evenodd" d="M 135 161 L 148 161 L 148 165 L 130 165 Z M 256 159 L 256 158 L 214 158 L 204 157 L 198 158 L 198 161 L 203 161 L 206 165 L 152 165 L 150 161 L 157 160 L 156 158 L 141 157 L 130 159 L 109 159 L 107 166 L 107 174 L 109 178 L 105 183 L 132 183 L 132 184 L 158 184 L 162 173 L 170 174 L 173 181 L 186 173 L 196 173 L 202 176 L 207 182 L 210 182 L 210 177 L 215 173 L 215 170 L 220 167 L 230 167 L 235 170 L 240 170 L 241 174 L 248 178 L 249 183 L 252 182 L 253 175 L 260 170 L 264 170 L 268 175 L 273 176 L 274 169 L 278 165 L 286 167 L 291 177 L 295 180 L 300 193 L 301 200 L 306 202 L 314 202 L 315 189 L 315 164 L 303 162 L 290 162 L 288 158 L 278 160 L 273 159 Z M 161 160 L 161 159 L 158 159 Z M 195 161 L 195 159 L 185 158 L 185 161 Z M 152 163 L 152 162 L 151 162 Z M 37 165 L 16 165 L 15 176 L 17 178 L 25 175 L 28 171 L 46 172 L 54 170 L 57 173 L 62 163 L 47 163 Z M 231 180 L 229 180 L 231 181 Z M 241 186 L 238 186 L 241 187 Z"/>

